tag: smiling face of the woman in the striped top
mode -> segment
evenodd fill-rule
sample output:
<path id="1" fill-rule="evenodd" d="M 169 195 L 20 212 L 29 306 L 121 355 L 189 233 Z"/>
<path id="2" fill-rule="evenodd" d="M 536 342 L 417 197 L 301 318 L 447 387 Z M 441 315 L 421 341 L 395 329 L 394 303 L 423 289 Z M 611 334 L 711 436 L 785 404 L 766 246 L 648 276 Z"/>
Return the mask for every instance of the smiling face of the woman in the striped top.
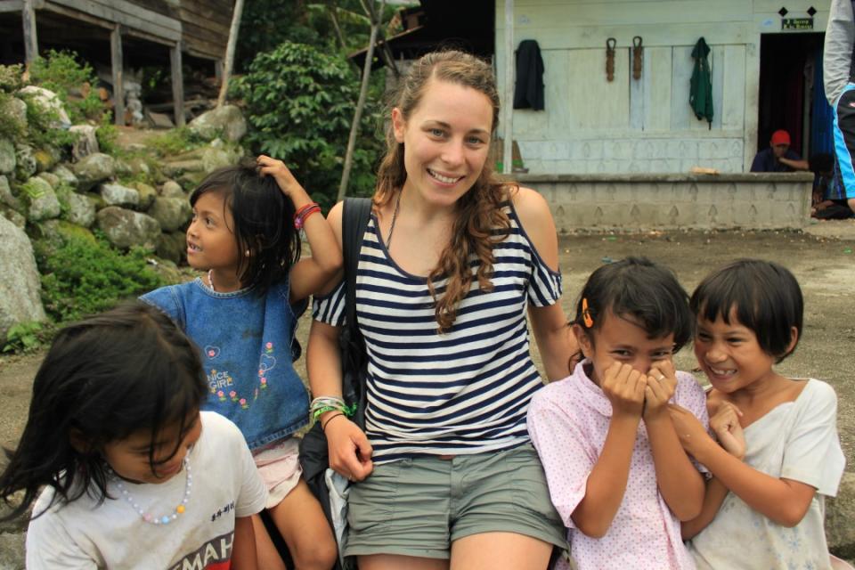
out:
<path id="1" fill-rule="evenodd" d="M 450 206 L 481 175 L 493 130 L 487 95 L 430 79 L 410 118 L 395 108 L 392 121 L 395 140 L 403 142 L 405 190 L 436 206 Z"/>

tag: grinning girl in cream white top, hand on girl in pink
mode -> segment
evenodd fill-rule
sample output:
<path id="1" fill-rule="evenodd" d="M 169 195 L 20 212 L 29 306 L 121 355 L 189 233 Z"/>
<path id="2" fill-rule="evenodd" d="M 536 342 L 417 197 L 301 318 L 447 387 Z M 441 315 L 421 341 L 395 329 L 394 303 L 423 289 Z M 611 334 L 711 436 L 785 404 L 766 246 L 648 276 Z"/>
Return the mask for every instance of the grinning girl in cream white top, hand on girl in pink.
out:
<path id="1" fill-rule="evenodd" d="M 835 391 L 773 369 L 802 335 L 798 282 L 780 265 L 740 260 L 704 279 L 691 306 L 721 442 L 672 406 L 684 448 L 712 473 L 701 515 L 683 525 L 697 567 L 830 568 L 824 500 L 845 463 Z"/>

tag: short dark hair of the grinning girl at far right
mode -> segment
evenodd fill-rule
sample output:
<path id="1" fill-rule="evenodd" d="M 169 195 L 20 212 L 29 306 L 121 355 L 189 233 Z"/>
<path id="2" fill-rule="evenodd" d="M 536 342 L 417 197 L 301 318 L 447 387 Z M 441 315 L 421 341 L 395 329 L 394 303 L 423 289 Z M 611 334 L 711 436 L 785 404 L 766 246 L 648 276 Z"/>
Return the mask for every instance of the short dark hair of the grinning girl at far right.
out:
<path id="1" fill-rule="evenodd" d="M 699 319 L 719 317 L 730 324 L 736 311 L 739 324 L 753 330 L 763 352 L 781 362 L 798 331 L 802 338 L 804 299 L 799 282 L 786 267 L 761 259 L 739 259 L 710 273 L 692 293 L 692 311 Z"/>

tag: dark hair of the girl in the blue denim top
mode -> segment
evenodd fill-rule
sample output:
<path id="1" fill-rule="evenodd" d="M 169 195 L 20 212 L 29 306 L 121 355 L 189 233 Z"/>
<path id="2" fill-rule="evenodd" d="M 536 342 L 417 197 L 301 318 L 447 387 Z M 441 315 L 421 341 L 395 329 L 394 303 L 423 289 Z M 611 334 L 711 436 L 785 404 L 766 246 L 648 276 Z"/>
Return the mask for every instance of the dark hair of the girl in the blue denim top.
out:
<path id="1" fill-rule="evenodd" d="M 229 229 L 238 244 L 241 287 L 265 295 L 300 259 L 300 233 L 292 223 L 294 204 L 273 176 L 259 175 L 255 164 L 248 163 L 208 175 L 191 194 L 191 206 L 208 192 L 221 192 L 232 210 L 234 227 Z"/>

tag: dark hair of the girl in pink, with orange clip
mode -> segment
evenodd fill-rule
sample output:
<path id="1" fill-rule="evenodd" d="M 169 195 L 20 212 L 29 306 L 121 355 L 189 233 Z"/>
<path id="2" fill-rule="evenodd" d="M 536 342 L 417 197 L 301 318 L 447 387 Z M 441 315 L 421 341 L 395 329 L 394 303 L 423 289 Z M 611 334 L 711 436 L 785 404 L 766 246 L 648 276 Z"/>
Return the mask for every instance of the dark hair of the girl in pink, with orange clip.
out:
<path id="1" fill-rule="evenodd" d="M 692 338 L 694 331 L 688 293 L 670 269 L 646 257 L 627 257 L 591 273 L 571 324 L 578 324 L 586 332 L 598 330 L 608 313 L 630 318 L 649 338 L 673 333 L 674 352 Z"/>

